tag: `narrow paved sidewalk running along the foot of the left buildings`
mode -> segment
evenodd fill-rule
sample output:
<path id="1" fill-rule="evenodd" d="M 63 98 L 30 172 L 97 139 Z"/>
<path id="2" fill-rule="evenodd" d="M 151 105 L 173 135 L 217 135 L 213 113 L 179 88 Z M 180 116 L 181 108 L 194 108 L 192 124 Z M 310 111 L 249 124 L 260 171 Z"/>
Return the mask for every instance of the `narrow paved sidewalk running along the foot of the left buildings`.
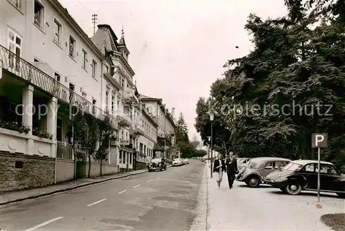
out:
<path id="1" fill-rule="evenodd" d="M 132 171 L 132 172 L 112 174 L 108 176 L 98 176 L 95 178 L 81 178 L 81 179 L 78 179 L 77 181 L 69 181 L 66 183 L 61 183 L 57 185 L 49 185 L 47 187 L 39 187 L 39 188 L 31 189 L 31 190 L 6 192 L 3 194 L 0 194 L 0 206 L 8 205 L 10 203 L 15 203 L 19 201 L 25 201 L 32 198 L 39 198 L 39 197 L 48 196 L 51 194 L 57 194 L 59 192 L 65 192 L 68 190 L 74 190 L 79 187 L 85 187 L 87 185 L 95 185 L 97 183 L 111 181 L 118 178 L 124 178 L 126 176 L 143 174 L 145 172 L 148 172 L 148 169 L 141 169 L 141 170 Z"/>

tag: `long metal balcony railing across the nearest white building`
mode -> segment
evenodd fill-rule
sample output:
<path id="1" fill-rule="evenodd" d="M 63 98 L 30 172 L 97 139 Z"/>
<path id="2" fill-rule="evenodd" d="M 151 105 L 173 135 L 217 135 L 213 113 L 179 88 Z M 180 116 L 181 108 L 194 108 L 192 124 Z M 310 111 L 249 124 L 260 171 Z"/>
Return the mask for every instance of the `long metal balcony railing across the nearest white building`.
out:
<path id="1" fill-rule="evenodd" d="M 44 73 L 36 66 L 30 64 L 25 59 L 15 55 L 7 48 L 0 45 L 0 62 L 2 68 L 17 75 L 21 79 L 38 87 L 46 93 L 58 98 L 59 100 L 78 107 L 81 111 L 90 113 L 97 118 L 103 118 L 106 113 L 92 102 L 86 100 L 81 95 L 68 89 L 53 77 Z M 117 128 L 116 119 L 113 118 L 112 124 Z"/>

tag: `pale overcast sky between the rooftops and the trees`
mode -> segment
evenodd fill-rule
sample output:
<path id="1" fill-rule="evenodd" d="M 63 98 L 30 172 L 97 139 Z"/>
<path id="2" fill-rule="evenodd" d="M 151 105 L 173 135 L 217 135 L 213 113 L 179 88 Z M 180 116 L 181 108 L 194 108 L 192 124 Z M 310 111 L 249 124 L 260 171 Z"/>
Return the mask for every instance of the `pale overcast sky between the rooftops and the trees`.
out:
<path id="1" fill-rule="evenodd" d="M 90 37 L 92 14 L 98 15 L 98 24 L 109 24 L 117 37 L 124 27 L 139 93 L 162 98 L 169 111 L 175 107 L 176 118 L 184 113 L 190 139 L 197 134 L 199 97 L 208 97 L 228 59 L 253 48 L 244 30 L 248 15 L 286 15 L 284 0 L 59 1 Z"/>

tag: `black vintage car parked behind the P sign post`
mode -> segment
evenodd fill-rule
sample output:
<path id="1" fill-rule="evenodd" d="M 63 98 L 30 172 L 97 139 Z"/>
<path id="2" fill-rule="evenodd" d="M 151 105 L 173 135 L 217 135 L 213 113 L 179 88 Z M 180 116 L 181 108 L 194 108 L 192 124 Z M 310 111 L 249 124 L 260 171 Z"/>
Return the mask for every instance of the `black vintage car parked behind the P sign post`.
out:
<path id="1" fill-rule="evenodd" d="M 316 160 L 294 160 L 281 171 L 268 174 L 264 183 L 287 194 L 298 195 L 302 190 L 317 191 L 317 172 Z M 345 197 L 345 176 L 339 174 L 332 163 L 320 163 L 320 191 Z"/>

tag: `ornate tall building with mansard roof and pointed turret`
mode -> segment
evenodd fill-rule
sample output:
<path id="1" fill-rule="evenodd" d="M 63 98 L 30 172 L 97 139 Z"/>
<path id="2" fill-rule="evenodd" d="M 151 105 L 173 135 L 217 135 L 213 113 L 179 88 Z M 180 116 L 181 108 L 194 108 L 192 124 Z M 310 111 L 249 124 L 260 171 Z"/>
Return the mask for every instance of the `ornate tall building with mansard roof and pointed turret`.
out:
<path id="1" fill-rule="evenodd" d="M 119 153 L 121 172 L 133 169 L 133 158 L 139 150 L 139 136 L 145 134 L 141 123 L 141 103 L 133 76 L 135 72 L 128 63 L 130 51 L 126 46 L 124 30 L 118 41 L 117 35 L 107 24 L 98 25 L 92 41 L 111 61 L 111 81 L 119 83 L 119 91 L 114 95 L 109 86 L 106 90 L 108 108 L 119 120 L 118 140 L 112 145 L 110 152 Z M 112 105 L 112 107 L 111 107 Z"/>

